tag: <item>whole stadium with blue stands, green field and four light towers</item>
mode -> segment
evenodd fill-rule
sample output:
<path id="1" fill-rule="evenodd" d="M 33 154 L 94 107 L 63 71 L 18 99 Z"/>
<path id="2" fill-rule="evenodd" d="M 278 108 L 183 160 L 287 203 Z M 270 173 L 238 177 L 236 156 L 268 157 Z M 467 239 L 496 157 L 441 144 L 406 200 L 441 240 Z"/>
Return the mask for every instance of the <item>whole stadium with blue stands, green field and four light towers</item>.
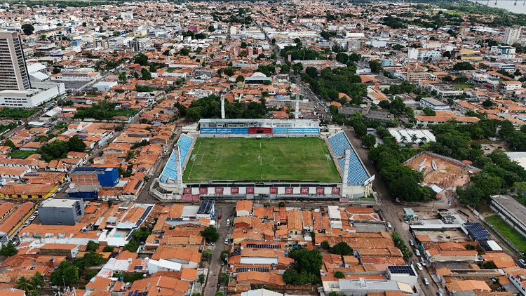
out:
<path id="1" fill-rule="evenodd" d="M 307 119 L 201 119 L 177 140 L 151 191 L 165 201 L 349 200 L 371 176 L 343 131 Z"/>

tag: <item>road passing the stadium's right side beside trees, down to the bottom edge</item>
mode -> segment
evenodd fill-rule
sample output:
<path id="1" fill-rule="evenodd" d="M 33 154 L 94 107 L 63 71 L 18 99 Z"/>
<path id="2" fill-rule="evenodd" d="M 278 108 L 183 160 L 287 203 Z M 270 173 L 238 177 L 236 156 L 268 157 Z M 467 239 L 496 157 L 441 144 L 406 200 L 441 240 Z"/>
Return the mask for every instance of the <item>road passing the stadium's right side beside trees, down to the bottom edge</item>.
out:
<path id="1" fill-rule="evenodd" d="M 380 213 L 382 214 L 384 220 L 391 222 L 393 231 L 398 232 L 398 234 L 400 234 L 400 236 L 402 236 L 403 240 L 405 241 L 405 244 L 408 247 L 410 247 L 409 241 L 410 239 L 414 241 L 414 239 L 410 235 L 409 225 L 403 222 L 403 206 L 393 202 L 393 197 L 391 196 L 391 194 L 389 194 L 389 187 L 387 187 L 387 184 L 384 182 L 384 180 L 382 180 L 382 178 L 379 177 L 375 165 L 372 164 L 371 161 L 369 161 L 367 157 L 367 149 L 362 147 L 361 141 L 358 140 L 358 138 L 354 135 L 353 129 L 344 128 L 344 131 L 347 137 L 349 137 L 349 140 L 351 140 L 351 144 L 353 144 L 356 153 L 363 161 L 365 168 L 367 168 L 371 175 L 376 175 L 375 181 L 372 183 L 372 186 L 374 187 L 375 191 L 377 191 L 377 193 L 379 194 L 380 206 L 377 206 L 377 210 L 380 210 Z M 414 253 L 414 250 L 412 251 Z M 419 262 L 419 257 L 413 255 L 410 258 L 410 262 L 413 263 L 414 268 L 417 269 L 416 263 Z M 438 285 L 435 282 L 433 282 L 429 269 L 424 267 L 424 270 L 418 271 L 417 269 L 417 272 L 419 272 L 419 285 L 422 291 L 424 292 L 424 295 L 436 295 L 440 287 L 438 287 Z M 424 284 L 424 277 L 428 279 L 430 283 L 429 285 Z"/>

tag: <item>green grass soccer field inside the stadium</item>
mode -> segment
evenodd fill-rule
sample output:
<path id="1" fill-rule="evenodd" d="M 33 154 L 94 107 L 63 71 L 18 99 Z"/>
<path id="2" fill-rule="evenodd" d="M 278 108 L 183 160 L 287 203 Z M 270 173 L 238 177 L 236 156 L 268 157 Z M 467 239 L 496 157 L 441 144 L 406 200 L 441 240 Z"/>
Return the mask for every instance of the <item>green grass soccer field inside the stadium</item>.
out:
<path id="1" fill-rule="evenodd" d="M 325 142 L 302 138 L 198 138 L 184 182 L 342 182 Z"/>

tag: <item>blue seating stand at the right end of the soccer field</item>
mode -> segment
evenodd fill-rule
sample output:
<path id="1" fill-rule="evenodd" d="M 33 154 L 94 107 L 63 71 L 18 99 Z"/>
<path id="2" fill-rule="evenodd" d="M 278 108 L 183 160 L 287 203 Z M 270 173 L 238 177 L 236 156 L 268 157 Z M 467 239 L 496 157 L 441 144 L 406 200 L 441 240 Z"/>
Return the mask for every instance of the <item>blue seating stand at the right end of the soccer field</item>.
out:
<path id="1" fill-rule="evenodd" d="M 332 147 L 332 151 L 335 152 L 335 155 L 339 158 L 339 166 L 344 170 L 345 167 L 345 150 L 351 150 L 351 157 L 349 159 L 349 177 L 347 177 L 347 184 L 351 186 L 361 186 L 363 182 L 369 178 L 367 171 L 360 163 L 356 152 L 351 147 L 351 143 L 345 137 L 345 134 L 337 133 L 332 137 L 329 137 L 329 144 Z"/>

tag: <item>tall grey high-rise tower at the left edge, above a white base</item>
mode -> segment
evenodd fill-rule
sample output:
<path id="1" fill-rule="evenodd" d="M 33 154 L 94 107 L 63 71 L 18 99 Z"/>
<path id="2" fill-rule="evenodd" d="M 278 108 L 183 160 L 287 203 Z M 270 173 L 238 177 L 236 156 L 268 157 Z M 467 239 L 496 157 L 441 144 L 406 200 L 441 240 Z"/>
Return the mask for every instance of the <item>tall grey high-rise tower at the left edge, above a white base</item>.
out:
<path id="1" fill-rule="evenodd" d="M 18 32 L 0 32 L 0 90 L 31 88 Z"/>

